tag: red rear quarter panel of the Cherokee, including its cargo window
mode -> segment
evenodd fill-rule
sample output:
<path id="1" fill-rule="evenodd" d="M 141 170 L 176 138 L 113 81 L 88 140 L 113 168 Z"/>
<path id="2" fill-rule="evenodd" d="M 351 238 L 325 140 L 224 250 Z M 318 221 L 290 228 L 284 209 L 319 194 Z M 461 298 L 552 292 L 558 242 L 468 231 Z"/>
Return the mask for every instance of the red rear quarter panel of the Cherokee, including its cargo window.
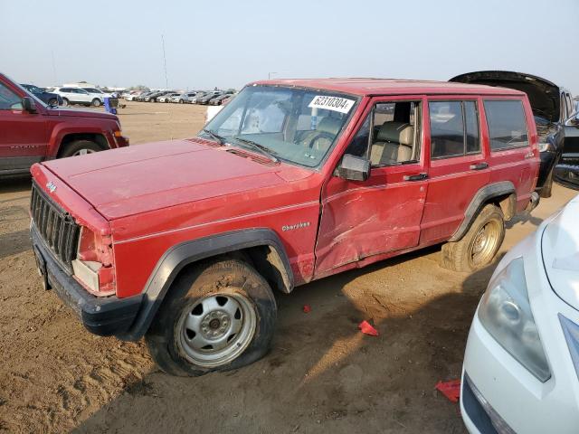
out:
<path id="1" fill-rule="evenodd" d="M 533 121 L 529 127 L 533 113 L 522 99 L 512 97 L 485 98 L 483 103 L 489 127 L 490 182 L 511 182 L 517 191 L 517 212 L 521 212 L 535 190 L 539 165 Z"/>

